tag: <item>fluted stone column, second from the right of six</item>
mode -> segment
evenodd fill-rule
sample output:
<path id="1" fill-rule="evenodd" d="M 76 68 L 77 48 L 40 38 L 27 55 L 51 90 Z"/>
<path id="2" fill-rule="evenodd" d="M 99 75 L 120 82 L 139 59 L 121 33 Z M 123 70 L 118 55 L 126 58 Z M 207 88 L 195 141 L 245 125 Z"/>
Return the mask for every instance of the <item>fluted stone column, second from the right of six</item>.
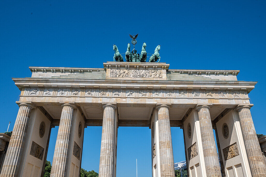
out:
<path id="1" fill-rule="evenodd" d="M 196 107 L 200 120 L 200 132 L 206 175 L 207 177 L 220 177 L 222 176 L 222 174 L 220 170 L 217 149 L 213 135 L 213 127 L 211 125 L 209 108 L 210 107 L 207 105 L 201 105 Z"/>

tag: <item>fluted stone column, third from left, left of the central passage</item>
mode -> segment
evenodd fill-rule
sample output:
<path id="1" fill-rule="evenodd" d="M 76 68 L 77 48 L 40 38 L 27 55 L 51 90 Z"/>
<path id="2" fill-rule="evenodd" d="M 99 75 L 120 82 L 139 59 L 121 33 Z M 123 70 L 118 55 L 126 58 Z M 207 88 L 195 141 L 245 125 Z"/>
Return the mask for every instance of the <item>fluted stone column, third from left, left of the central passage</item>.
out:
<path id="1" fill-rule="evenodd" d="M 99 177 L 113 177 L 115 157 L 115 109 L 114 104 L 103 105 L 102 142 L 99 165 Z"/>

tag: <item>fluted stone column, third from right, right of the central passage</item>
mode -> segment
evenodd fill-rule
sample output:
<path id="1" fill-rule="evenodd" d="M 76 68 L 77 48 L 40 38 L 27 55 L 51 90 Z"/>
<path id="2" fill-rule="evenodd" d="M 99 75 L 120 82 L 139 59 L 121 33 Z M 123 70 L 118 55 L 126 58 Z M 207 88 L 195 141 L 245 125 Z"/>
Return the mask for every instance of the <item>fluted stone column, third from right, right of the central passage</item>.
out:
<path id="1" fill-rule="evenodd" d="M 157 106 L 156 109 L 158 109 L 161 177 L 174 177 L 174 156 L 169 121 L 169 106 L 163 104 Z"/>

